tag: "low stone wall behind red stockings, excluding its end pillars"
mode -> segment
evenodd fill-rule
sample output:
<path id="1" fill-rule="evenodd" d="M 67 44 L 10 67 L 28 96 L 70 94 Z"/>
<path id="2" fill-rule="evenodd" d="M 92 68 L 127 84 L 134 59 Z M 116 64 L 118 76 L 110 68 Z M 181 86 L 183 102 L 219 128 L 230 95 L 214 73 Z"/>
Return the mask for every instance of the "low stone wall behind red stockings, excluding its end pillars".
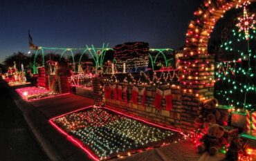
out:
<path id="1" fill-rule="evenodd" d="M 102 82 L 102 84 L 109 85 L 109 82 Z M 111 84 L 113 85 L 113 84 Z M 154 107 L 154 97 L 156 95 L 156 86 L 146 86 L 146 102 L 145 106 L 141 104 L 142 101 L 142 93 L 138 94 L 138 104 L 133 104 L 131 102 L 131 93 L 133 86 L 127 83 L 119 83 L 122 86 L 122 90 L 125 86 L 127 86 L 127 97 L 128 103 L 113 100 L 113 93 L 111 93 L 111 99 L 104 99 L 104 106 L 109 108 L 114 108 L 118 111 L 122 111 L 129 115 L 142 117 L 145 120 L 149 120 L 150 122 L 154 122 L 156 124 L 161 124 L 163 126 L 171 126 L 176 129 L 184 129 L 190 131 L 193 129 L 193 121 L 186 120 L 186 115 L 190 115 L 190 111 L 186 108 L 183 108 L 181 104 L 181 87 L 179 84 L 165 85 L 159 86 L 161 90 L 171 89 L 172 91 L 172 104 L 173 108 L 171 111 L 165 110 L 165 97 L 163 97 L 161 102 L 161 110 L 157 110 Z M 144 86 L 138 86 L 139 90 Z M 124 91 L 123 91 L 124 93 Z M 122 95 L 122 99 L 124 100 L 124 95 Z"/>

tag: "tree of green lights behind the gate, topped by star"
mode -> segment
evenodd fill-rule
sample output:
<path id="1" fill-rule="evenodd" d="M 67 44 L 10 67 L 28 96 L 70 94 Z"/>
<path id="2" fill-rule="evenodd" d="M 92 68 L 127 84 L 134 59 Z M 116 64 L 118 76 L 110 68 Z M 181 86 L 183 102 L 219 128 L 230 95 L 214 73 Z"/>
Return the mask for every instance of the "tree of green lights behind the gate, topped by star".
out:
<path id="1" fill-rule="evenodd" d="M 215 95 L 220 104 L 256 110 L 255 14 L 244 3 L 232 35 L 221 44 L 223 56 L 217 62 Z"/>

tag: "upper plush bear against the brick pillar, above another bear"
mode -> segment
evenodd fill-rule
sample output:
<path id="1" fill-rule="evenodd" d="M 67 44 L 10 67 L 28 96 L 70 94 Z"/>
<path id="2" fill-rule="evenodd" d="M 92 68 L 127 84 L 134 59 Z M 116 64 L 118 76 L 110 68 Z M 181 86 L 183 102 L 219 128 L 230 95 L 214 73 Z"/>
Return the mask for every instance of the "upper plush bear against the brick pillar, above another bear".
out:
<path id="1" fill-rule="evenodd" d="M 199 105 L 199 117 L 196 117 L 194 123 L 199 127 L 208 128 L 210 124 L 215 124 L 221 117 L 221 113 L 216 109 L 217 99 L 205 100 Z"/>

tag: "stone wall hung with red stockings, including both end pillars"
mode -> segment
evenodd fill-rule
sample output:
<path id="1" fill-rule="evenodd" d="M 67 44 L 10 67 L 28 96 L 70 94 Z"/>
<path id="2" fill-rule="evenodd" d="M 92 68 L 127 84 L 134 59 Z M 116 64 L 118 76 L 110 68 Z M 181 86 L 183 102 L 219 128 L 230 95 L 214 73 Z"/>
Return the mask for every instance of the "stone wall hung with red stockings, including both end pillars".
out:
<path id="1" fill-rule="evenodd" d="M 184 73 L 186 64 L 190 64 L 190 59 L 182 58 L 179 61 L 179 77 L 180 82 L 176 83 L 175 86 L 170 82 L 170 86 L 160 86 L 158 88 L 167 89 L 171 88 L 172 91 L 172 103 L 173 108 L 171 111 L 165 110 L 165 99 L 162 100 L 162 108 L 160 111 L 154 107 L 154 97 L 156 95 L 156 86 L 146 87 L 146 103 L 142 106 L 141 99 L 142 95 L 138 95 L 138 104 L 131 103 L 131 91 L 132 85 L 127 83 L 119 83 L 127 86 L 128 104 L 113 100 L 113 93 L 111 93 L 111 100 L 102 99 L 102 86 L 104 84 L 109 85 L 109 82 L 104 82 L 104 77 L 98 77 L 93 82 L 93 88 L 97 88 L 99 91 L 94 91 L 95 104 L 108 106 L 115 108 L 118 111 L 129 113 L 138 117 L 143 117 L 149 121 L 155 122 L 156 124 L 162 124 L 165 126 L 174 126 L 185 131 L 194 129 L 194 118 L 198 116 L 199 102 L 214 97 L 214 84 L 211 80 L 214 80 L 214 57 L 212 55 L 197 57 L 194 60 L 196 63 L 190 65 L 190 73 Z M 113 84 L 112 84 L 113 85 Z M 143 88 L 143 86 L 140 86 Z M 101 103 L 102 102 L 102 103 Z"/>

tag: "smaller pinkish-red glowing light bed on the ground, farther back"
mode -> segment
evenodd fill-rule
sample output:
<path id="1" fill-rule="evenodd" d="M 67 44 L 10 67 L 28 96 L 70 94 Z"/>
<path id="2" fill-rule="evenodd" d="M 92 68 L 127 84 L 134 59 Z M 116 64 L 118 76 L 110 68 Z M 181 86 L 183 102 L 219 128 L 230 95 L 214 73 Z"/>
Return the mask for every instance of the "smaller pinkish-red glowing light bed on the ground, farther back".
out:
<path id="1" fill-rule="evenodd" d="M 16 91 L 23 97 L 25 100 L 37 100 L 44 97 L 52 97 L 58 95 L 59 93 L 53 93 L 46 90 L 46 88 L 39 88 L 35 86 L 29 86 L 24 88 L 17 88 Z"/>

